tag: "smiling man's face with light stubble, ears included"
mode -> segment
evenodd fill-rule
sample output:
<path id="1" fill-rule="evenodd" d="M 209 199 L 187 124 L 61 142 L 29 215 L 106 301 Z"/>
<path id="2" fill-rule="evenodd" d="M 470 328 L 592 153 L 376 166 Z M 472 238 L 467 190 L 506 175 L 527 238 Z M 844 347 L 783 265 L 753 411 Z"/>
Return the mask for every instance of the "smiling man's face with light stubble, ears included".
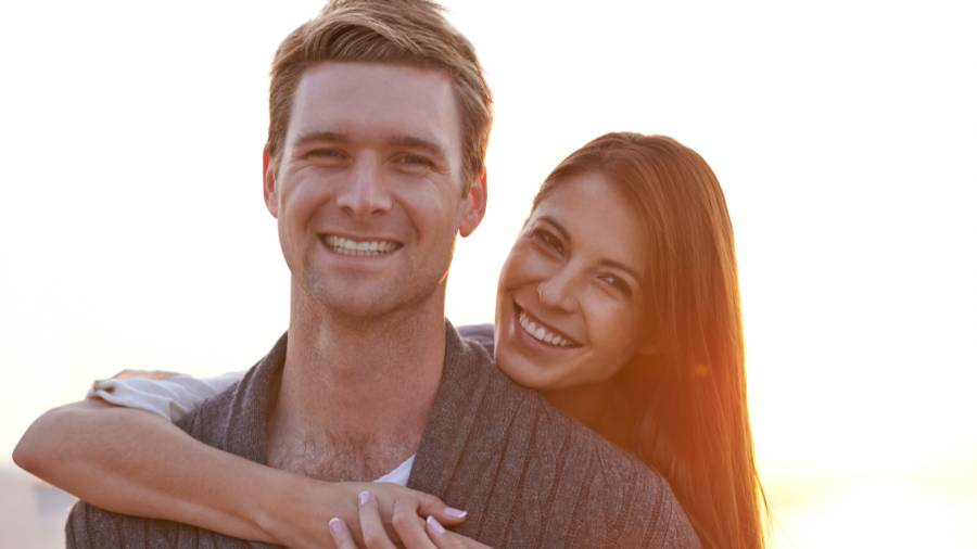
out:
<path id="1" fill-rule="evenodd" d="M 293 292 L 352 317 L 443 297 L 455 234 L 484 215 L 462 189 L 461 124 L 441 72 L 325 62 L 295 91 L 265 201 Z"/>

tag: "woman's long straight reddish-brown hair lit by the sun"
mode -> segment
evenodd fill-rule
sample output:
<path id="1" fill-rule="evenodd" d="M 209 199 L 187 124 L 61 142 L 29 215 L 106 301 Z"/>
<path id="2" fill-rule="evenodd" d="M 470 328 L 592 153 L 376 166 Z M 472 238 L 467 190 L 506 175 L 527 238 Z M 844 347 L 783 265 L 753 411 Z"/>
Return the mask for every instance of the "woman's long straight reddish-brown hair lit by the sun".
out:
<path id="1" fill-rule="evenodd" d="M 733 226 L 719 181 L 671 138 L 608 133 L 557 166 L 533 208 L 587 173 L 604 175 L 645 220 L 645 336 L 657 348 L 618 375 L 598 431 L 667 477 L 703 547 L 762 548 L 766 505 L 747 410 Z"/>

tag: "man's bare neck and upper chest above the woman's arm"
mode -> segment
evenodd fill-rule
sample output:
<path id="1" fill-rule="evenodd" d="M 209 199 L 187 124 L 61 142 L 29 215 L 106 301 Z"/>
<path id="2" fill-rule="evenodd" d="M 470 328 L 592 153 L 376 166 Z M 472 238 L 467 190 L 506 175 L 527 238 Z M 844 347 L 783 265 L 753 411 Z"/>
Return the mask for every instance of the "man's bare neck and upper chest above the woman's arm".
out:
<path id="1" fill-rule="evenodd" d="M 353 319 L 294 294 L 269 459 L 326 480 L 379 476 L 420 444 L 444 367 L 443 295 Z M 289 467 L 296 451 L 322 462 Z"/>

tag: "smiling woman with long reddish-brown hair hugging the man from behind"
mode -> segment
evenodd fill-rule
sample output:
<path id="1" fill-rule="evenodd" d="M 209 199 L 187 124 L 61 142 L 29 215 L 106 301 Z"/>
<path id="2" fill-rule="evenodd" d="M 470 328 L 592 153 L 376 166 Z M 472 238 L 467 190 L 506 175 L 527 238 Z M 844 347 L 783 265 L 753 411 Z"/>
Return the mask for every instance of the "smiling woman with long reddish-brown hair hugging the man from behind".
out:
<path id="1" fill-rule="evenodd" d="M 715 176 L 698 154 L 664 137 L 609 133 L 557 166 L 502 270 L 494 341 L 498 367 L 516 382 L 661 472 L 703 547 L 763 546 L 733 232 Z M 115 427 L 81 426 L 142 432 L 140 414 L 114 413 Z M 36 424 L 18 462 L 30 455 L 25 469 L 106 509 L 287 545 L 321 545 L 327 516 L 340 518 L 330 522 L 332 534 L 348 544 L 347 522 L 369 534 L 381 516 L 390 521 L 394 500 L 433 515 L 428 533 L 439 542 L 439 521 L 464 520 L 406 488 L 319 483 L 201 448 L 172 426 L 153 429 L 169 430 L 180 461 L 156 470 L 150 463 L 160 456 L 130 455 L 126 462 L 139 471 L 100 471 L 99 482 L 86 483 L 111 456 L 72 448 L 77 463 L 68 456 L 38 464 L 45 438 L 55 435 Z M 188 486 L 188 471 L 199 468 L 215 480 Z M 264 486 L 255 494 L 271 496 L 233 501 L 240 491 L 219 477 L 231 470 L 229 478 L 255 478 Z M 365 505 L 354 507 L 364 489 Z M 307 505 L 290 507 L 290 499 Z"/>

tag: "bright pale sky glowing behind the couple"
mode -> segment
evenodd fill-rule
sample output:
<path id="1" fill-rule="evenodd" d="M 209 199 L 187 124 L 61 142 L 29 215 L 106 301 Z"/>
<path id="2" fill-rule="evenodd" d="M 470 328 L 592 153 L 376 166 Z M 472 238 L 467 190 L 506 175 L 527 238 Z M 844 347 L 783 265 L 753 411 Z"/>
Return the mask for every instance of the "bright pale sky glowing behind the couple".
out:
<path id="1" fill-rule="evenodd" d="M 448 317 L 493 318 L 564 155 L 672 136 L 728 200 L 775 547 L 977 546 L 970 3 L 446 4 L 496 99 L 488 213 Z M 94 378 L 242 369 L 284 330 L 267 71 L 320 5 L 0 8 L 0 465 Z"/>

